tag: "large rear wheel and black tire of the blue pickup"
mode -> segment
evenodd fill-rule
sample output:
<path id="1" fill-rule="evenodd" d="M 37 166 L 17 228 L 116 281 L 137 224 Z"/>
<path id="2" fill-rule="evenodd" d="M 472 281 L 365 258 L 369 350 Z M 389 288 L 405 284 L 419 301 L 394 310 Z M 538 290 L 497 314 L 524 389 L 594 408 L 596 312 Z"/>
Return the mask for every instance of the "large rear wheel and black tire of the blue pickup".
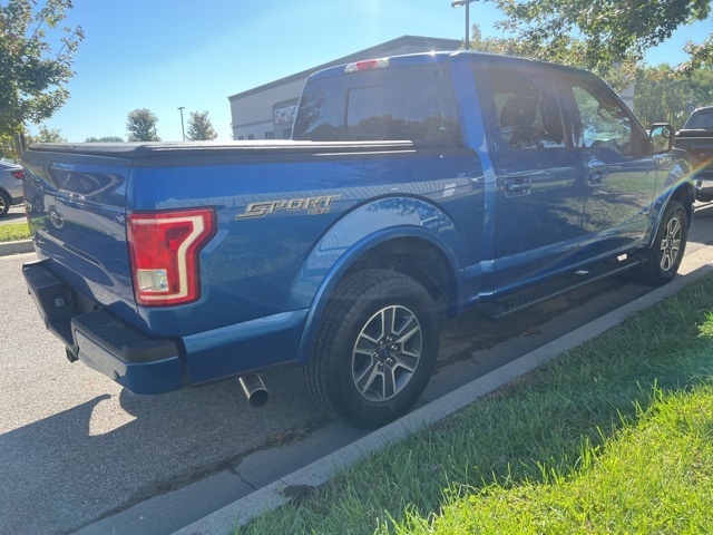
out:
<path id="1" fill-rule="evenodd" d="M 332 417 L 375 428 L 403 415 L 428 385 L 440 329 L 429 293 L 387 270 L 344 279 L 330 298 L 304 378 Z"/>

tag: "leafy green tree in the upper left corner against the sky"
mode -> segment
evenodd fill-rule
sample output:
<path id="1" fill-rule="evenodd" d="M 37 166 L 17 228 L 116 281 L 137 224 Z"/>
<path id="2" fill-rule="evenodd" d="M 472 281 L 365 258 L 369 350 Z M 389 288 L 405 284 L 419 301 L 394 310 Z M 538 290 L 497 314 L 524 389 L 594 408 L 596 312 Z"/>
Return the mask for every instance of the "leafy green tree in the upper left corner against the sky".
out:
<path id="1" fill-rule="evenodd" d="M 16 137 L 27 123 L 50 118 L 69 98 L 66 84 L 81 27 L 58 25 L 71 0 L 9 0 L 0 6 L 0 136 Z"/>

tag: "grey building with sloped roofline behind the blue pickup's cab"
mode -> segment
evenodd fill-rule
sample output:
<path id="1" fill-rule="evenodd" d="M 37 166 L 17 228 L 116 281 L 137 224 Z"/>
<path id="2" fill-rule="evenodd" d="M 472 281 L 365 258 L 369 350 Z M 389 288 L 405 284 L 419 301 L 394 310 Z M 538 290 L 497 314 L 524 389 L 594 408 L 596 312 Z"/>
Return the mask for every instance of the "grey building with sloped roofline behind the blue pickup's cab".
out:
<path id="1" fill-rule="evenodd" d="M 312 69 L 271 81 L 228 97 L 233 139 L 287 139 L 297 109 L 302 86 L 312 72 L 335 65 L 378 59 L 402 54 L 457 50 L 461 41 L 431 37 L 403 36 L 354 52 Z"/>

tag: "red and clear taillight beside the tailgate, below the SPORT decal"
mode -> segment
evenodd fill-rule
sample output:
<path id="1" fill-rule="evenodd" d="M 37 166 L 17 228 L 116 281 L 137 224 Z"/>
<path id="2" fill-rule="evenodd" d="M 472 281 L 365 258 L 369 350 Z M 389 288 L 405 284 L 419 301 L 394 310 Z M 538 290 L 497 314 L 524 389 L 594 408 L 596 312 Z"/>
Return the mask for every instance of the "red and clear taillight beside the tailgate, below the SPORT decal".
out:
<path id="1" fill-rule="evenodd" d="M 164 307 L 201 296 L 198 253 L 215 234 L 212 210 L 129 214 L 127 239 L 136 302 Z"/>

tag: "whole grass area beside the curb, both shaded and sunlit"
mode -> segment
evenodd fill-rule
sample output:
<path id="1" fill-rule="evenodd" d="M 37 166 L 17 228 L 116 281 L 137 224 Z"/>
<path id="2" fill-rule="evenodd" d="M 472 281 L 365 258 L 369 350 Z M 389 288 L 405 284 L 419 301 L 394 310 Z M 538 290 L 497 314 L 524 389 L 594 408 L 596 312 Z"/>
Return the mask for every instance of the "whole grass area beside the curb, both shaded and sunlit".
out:
<path id="1" fill-rule="evenodd" d="M 713 276 L 236 533 L 707 533 Z"/>

